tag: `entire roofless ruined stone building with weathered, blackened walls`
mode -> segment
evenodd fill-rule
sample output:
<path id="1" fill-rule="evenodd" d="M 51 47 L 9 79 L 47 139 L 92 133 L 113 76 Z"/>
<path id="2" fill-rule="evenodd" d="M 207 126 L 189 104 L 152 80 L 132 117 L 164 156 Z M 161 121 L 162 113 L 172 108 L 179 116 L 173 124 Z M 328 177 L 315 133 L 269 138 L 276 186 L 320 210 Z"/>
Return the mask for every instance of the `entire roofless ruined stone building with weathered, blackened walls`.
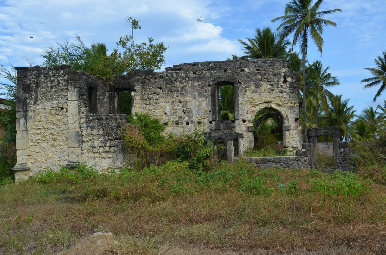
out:
<path id="1" fill-rule="evenodd" d="M 132 113 L 159 119 L 165 133 L 204 127 L 207 139 L 253 148 L 254 118 L 264 108 L 282 122 L 284 148 L 301 148 L 297 74 L 284 60 L 188 63 L 115 77 L 112 83 L 68 65 L 18 67 L 16 180 L 75 163 L 98 170 L 125 166 L 119 92 L 130 91 Z M 234 120 L 219 120 L 218 89 L 234 89 Z M 255 125 L 256 126 L 256 125 Z"/>

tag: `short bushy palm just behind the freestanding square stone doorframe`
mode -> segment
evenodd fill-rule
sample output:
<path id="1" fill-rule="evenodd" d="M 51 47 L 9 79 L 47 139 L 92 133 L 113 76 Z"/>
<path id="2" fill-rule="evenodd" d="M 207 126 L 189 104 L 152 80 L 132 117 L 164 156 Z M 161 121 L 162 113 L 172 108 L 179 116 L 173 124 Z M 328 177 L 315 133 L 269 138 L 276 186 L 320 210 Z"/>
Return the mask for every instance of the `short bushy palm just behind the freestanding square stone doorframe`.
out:
<path id="1" fill-rule="evenodd" d="M 352 119 L 356 117 L 354 114 L 354 106 L 348 106 L 349 99 L 342 101 L 342 95 L 336 95 L 329 98 L 329 111 L 320 117 L 321 126 L 325 127 L 340 127 L 340 140 L 349 139 L 349 129 L 352 126 Z"/>

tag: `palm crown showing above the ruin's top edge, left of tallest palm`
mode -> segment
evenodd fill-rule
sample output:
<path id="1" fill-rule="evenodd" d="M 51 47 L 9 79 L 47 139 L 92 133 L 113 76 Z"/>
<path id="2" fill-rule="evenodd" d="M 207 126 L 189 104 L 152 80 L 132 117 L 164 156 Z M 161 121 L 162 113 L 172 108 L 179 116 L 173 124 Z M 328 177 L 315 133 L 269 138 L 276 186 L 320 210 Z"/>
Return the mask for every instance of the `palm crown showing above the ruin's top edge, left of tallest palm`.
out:
<path id="1" fill-rule="evenodd" d="M 239 39 L 247 59 L 285 59 L 289 40 L 280 39 L 269 27 L 256 28 L 253 38 Z"/>

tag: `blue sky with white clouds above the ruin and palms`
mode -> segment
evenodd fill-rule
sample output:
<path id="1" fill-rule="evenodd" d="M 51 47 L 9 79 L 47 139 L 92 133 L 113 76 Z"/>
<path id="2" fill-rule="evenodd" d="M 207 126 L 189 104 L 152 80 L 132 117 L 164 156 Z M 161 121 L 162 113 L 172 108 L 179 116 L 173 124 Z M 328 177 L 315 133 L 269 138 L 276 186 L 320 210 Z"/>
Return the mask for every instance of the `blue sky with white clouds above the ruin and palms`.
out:
<path id="1" fill-rule="evenodd" d="M 86 45 L 104 43 L 112 52 L 120 36 L 131 34 L 125 18 L 140 20 L 135 42 L 164 42 L 168 46 L 164 67 L 181 63 L 226 60 L 243 55 L 238 39 L 253 37 L 256 28 L 277 29 L 273 18 L 284 15 L 289 0 L 0 0 L 0 63 L 10 67 L 41 65 L 45 47 L 80 36 Z M 383 105 L 384 92 L 374 103 L 378 87 L 363 89 L 362 79 L 371 77 L 365 67 L 386 51 L 385 0 L 324 0 L 320 10 L 342 9 L 326 19 L 337 27 L 323 30 L 323 53 L 310 42 L 310 62 L 339 78 L 331 88 L 343 94 L 357 114 L 367 106 Z M 206 19 L 197 22 L 199 17 Z M 291 38 L 289 38 L 291 39 Z M 118 48 L 119 49 L 119 48 Z M 297 48 L 295 47 L 295 50 Z M 164 67 L 161 69 L 164 70 Z M 1 82 L 7 82 L 0 78 Z M 1 90 L 0 90 L 1 91 Z M 2 90 L 4 92 L 4 90 Z"/>

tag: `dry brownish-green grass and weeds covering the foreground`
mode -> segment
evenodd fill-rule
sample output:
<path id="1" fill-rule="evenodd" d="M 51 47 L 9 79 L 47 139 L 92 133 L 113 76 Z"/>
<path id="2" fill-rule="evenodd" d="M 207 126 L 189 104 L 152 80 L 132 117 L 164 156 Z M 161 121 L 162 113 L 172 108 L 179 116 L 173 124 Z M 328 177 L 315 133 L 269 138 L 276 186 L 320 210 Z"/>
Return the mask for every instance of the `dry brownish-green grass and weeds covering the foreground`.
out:
<path id="1" fill-rule="evenodd" d="M 112 232 L 120 254 L 143 246 L 152 249 L 141 254 L 162 253 L 162 245 L 386 253 L 386 188 L 354 173 L 244 161 L 207 172 L 176 161 L 102 174 L 81 165 L 0 193 L 0 254 L 54 254 L 97 231 Z"/>

